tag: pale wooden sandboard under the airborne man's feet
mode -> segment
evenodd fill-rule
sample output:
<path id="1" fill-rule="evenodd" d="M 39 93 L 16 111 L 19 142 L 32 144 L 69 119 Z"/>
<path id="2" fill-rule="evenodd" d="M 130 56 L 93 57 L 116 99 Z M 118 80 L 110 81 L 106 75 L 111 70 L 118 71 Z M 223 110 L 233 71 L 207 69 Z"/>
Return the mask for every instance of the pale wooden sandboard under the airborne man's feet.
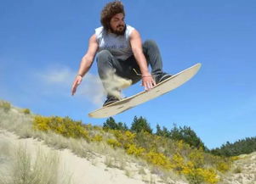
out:
<path id="1" fill-rule="evenodd" d="M 89 113 L 88 116 L 92 118 L 106 118 L 122 113 L 125 110 L 134 108 L 141 103 L 145 103 L 153 98 L 163 95 L 164 93 L 174 90 L 178 86 L 181 86 L 186 81 L 189 81 L 194 75 L 196 75 L 200 67 L 201 64 L 195 64 L 191 66 L 191 68 L 183 70 L 178 74 L 171 76 L 167 80 L 158 83 L 149 91 L 139 92 L 129 98 L 122 98 L 115 103 L 111 103 L 105 107 Z"/>

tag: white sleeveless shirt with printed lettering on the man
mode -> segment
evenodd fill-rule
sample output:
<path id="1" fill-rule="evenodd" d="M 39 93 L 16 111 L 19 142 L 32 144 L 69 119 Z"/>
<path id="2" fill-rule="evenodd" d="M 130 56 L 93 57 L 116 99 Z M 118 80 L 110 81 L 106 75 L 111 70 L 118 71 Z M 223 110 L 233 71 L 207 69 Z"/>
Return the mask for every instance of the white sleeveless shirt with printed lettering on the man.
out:
<path id="1" fill-rule="evenodd" d="M 102 50 L 108 50 L 116 59 L 126 60 L 133 55 L 130 45 L 130 35 L 134 27 L 126 25 L 126 31 L 123 36 L 117 36 L 113 33 L 107 33 L 103 27 L 95 29 L 95 35 L 99 44 L 98 53 Z"/>

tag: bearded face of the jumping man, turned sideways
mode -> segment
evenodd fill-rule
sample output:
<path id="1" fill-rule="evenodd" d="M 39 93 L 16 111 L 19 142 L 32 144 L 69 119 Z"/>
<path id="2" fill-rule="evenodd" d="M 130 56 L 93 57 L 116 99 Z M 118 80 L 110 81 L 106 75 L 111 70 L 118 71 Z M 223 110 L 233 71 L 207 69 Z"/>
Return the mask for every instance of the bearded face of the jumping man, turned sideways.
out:
<path id="1" fill-rule="evenodd" d="M 125 23 L 124 23 L 124 16 L 123 14 L 115 14 L 111 18 L 111 32 L 117 35 L 123 35 L 125 31 Z"/>

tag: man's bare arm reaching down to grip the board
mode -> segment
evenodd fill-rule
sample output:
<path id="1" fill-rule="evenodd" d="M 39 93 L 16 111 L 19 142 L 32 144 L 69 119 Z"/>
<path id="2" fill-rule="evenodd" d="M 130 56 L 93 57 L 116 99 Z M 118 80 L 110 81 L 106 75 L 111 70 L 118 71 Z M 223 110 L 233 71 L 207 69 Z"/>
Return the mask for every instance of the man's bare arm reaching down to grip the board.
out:
<path id="1" fill-rule="evenodd" d="M 153 86 L 156 85 L 156 82 L 153 80 L 151 73 L 148 70 L 139 31 L 132 31 L 130 36 L 130 43 L 134 57 L 139 64 L 139 69 L 142 74 L 142 86 L 145 86 L 145 90 L 150 90 Z"/>

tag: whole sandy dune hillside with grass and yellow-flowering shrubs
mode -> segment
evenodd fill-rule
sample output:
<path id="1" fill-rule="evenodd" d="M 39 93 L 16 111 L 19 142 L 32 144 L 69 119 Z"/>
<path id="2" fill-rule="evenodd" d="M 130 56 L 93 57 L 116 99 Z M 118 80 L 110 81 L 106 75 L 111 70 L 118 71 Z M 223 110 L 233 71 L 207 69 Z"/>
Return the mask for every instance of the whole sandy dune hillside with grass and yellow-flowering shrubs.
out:
<path id="1" fill-rule="evenodd" d="M 235 183 L 234 178 L 253 183 L 256 178 L 253 153 L 224 158 L 146 132 L 103 130 L 3 101 L 0 106 L 0 183 Z"/>

